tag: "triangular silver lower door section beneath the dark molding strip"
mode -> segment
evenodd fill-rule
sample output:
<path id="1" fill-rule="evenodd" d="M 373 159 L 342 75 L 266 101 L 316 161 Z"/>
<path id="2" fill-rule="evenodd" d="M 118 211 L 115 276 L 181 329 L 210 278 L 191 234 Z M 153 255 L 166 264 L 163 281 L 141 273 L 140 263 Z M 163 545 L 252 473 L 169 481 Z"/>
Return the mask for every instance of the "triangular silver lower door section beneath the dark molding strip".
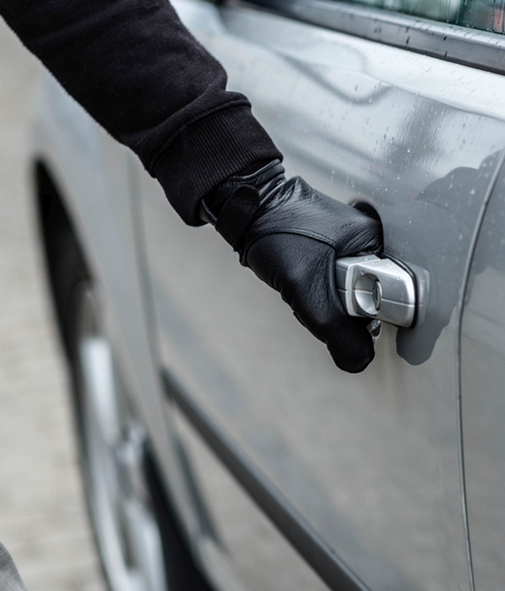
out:
<path id="1" fill-rule="evenodd" d="M 201 528 L 196 543 L 216 588 L 327 589 L 260 507 L 251 502 L 227 466 L 211 453 L 183 412 L 175 409 L 174 415 L 188 453 L 190 480 L 198 490 Z"/>

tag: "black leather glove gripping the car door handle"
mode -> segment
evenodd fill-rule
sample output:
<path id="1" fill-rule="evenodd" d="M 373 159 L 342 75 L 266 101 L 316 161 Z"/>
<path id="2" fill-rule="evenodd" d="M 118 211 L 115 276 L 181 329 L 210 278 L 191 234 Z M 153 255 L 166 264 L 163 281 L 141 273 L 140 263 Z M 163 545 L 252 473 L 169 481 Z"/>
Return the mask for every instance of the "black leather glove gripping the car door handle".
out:
<path id="1" fill-rule="evenodd" d="M 338 296 L 336 260 L 379 253 L 380 222 L 310 187 L 286 180 L 278 160 L 228 179 L 202 202 L 243 265 L 279 292 L 340 369 L 356 373 L 374 357 L 369 321 L 353 318 Z"/>

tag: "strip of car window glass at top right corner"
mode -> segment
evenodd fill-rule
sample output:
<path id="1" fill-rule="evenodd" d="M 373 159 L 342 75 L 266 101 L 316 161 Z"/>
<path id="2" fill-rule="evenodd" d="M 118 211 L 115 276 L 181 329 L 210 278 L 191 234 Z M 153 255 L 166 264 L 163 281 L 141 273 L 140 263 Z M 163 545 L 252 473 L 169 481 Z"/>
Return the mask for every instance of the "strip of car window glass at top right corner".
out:
<path id="1" fill-rule="evenodd" d="M 503 0 L 351 0 L 425 19 L 505 34 Z"/>

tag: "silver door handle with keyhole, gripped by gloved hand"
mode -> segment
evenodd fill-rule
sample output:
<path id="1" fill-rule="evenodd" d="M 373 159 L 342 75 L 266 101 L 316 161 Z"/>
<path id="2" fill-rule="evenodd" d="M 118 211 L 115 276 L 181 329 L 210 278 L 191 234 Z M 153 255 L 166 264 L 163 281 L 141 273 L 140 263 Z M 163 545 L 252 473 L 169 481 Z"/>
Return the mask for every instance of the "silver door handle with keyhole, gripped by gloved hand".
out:
<path id="1" fill-rule="evenodd" d="M 410 328 L 423 322 L 429 276 L 375 255 L 337 260 L 338 292 L 352 316 Z"/>

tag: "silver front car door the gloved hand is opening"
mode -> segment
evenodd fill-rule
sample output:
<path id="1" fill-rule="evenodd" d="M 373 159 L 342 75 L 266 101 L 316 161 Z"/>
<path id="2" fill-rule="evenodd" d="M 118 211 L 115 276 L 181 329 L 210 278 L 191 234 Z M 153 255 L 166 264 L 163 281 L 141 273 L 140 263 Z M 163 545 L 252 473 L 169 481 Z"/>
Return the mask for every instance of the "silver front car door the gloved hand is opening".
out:
<path id="1" fill-rule="evenodd" d="M 433 5 L 424 16 L 447 18 Z M 469 589 L 458 330 L 503 160 L 505 82 L 483 69 L 500 70 L 501 37 L 331 2 L 175 7 L 287 173 L 375 207 L 386 252 L 430 281 L 423 323 L 383 325 L 375 361 L 346 374 L 214 229 L 184 227 L 139 176 L 199 560 L 222 589 Z"/>

